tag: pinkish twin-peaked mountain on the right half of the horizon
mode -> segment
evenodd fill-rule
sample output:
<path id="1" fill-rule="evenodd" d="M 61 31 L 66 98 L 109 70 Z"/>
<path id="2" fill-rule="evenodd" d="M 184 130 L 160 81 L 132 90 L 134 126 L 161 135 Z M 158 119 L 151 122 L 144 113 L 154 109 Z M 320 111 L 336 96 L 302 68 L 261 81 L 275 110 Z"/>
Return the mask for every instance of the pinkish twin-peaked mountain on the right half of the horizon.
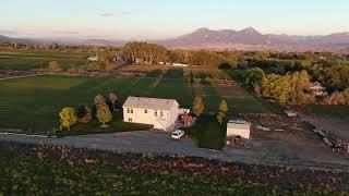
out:
<path id="1" fill-rule="evenodd" d="M 192 49 L 339 51 L 349 48 L 349 33 L 327 36 L 289 36 L 286 34 L 263 35 L 253 27 L 242 30 L 198 28 L 191 34 L 157 42 L 170 48 Z"/>

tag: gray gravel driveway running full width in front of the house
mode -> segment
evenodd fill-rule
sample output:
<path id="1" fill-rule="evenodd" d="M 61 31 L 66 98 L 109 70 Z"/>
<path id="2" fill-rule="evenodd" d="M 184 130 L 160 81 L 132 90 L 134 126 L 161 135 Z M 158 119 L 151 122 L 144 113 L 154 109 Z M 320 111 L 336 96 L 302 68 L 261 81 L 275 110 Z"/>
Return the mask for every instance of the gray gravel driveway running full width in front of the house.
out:
<path id="1" fill-rule="evenodd" d="M 164 132 L 125 132 L 116 134 L 100 134 L 86 136 L 70 136 L 61 138 L 46 138 L 26 135 L 0 134 L 0 140 L 16 142 L 35 145 L 70 146 L 111 151 L 128 151 L 153 155 L 185 155 L 218 159 L 229 162 L 246 164 L 285 166 L 291 168 L 308 168 L 315 170 L 349 171 L 349 157 L 337 155 L 325 146 L 320 150 L 324 154 L 314 154 L 315 147 L 284 146 L 278 148 L 278 139 L 266 142 L 251 140 L 255 145 L 250 149 L 227 148 L 222 151 L 196 147 L 195 143 L 185 137 L 173 140 L 169 133 Z M 285 148 L 285 149 L 284 149 Z M 291 149 L 290 149 L 291 148 Z M 326 151 L 327 150 L 327 151 Z"/>

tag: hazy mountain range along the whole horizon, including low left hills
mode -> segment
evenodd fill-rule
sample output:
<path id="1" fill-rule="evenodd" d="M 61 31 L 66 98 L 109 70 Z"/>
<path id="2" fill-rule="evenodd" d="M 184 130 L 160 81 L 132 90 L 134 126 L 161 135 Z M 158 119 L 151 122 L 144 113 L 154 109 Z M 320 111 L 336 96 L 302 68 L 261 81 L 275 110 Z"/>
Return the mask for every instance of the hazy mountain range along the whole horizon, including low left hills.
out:
<path id="1" fill-rule="evenodd" d="M 121 39 L 83 39 L 83 38 L 10 38 L 0 35 L 0 42 L 58 42 L 68 45 L 109 45 L 120 47 L 127 41 Z M 349 33 L 325 36 L 290 36 L 286 34 L 261 34 L 253 27 L 242 30 L 213 30 L 198 28 L 193 33 L 165 40 L 147 40 L 168 48 L 182 49 L 231 49 L 231 50 L 274 50 L 274 51 L 349 51 Z"/>

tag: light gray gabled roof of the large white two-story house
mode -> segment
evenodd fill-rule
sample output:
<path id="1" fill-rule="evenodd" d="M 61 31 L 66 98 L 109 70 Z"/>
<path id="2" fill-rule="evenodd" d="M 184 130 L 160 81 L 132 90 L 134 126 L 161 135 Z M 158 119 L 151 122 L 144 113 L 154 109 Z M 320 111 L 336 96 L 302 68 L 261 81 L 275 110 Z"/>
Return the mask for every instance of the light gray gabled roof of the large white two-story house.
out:
<path id="1" fill-rule="evenodd" d="M 152 110 L 170 110 L 179 103 L 174 99 L 158 99 L 146 97 L 129 97 L 122 108 L 142 108 Z"/>

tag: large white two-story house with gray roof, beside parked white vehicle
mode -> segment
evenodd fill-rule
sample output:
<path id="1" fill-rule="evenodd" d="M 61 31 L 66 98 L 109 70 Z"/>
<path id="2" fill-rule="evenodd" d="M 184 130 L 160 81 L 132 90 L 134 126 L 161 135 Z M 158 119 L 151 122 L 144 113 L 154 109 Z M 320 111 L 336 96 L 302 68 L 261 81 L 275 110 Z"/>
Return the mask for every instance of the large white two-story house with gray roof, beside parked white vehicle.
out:
<path id="1" fill-rule="evenodd" d="M 179 115 L 174 99 L 129 97 L 123 108 L 123 121 L 154 125 L 156 130 L 173 128 Z"/>

